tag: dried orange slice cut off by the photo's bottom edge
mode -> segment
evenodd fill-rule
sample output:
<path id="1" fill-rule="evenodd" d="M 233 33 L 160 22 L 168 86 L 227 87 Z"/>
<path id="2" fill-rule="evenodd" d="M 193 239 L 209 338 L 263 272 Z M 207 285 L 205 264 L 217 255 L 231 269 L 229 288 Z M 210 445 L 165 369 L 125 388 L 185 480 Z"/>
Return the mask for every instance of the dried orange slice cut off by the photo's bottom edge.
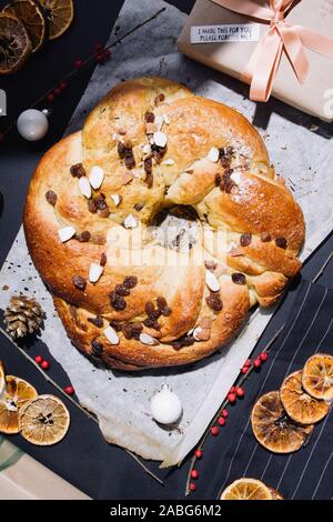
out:
<path id="1" fill-rule="evenodd" d="M 256 479 L 239 479 L 221 494 L 221 500 L 273 500 L 270 488 Z"/>

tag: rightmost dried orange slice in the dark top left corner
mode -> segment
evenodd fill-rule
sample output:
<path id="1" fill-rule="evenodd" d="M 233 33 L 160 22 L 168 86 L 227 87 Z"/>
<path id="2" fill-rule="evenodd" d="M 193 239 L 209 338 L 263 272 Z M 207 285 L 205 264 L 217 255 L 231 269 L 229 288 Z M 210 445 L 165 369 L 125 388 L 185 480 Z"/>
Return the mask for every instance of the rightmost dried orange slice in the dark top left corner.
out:
<path id="1" fill-rule="evenodd" d="M 49 23 L 49 39 L 56 40 L 67 31 L 74 18 L 73 0 L 39 0 Z"/>

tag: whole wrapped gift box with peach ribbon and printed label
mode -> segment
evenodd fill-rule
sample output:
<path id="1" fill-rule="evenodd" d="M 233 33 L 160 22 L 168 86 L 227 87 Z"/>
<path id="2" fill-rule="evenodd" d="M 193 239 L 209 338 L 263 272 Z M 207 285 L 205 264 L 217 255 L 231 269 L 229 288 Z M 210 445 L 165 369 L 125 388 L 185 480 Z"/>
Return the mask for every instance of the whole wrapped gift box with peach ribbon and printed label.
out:
<path id="1" fill-rule="evenodd" d="M 333 120 L 333 0 L 196 0 L 178 44 L 255 101 Z"/>

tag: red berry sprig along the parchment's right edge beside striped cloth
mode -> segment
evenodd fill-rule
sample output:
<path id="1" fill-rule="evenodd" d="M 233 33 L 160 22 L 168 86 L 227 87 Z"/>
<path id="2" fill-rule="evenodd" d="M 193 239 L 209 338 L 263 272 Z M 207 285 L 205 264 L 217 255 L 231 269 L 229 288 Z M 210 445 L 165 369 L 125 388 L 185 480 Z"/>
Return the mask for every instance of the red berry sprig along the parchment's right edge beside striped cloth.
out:
<path id="1" fill-rule="evenodd" d="M 272 337 L 272 339 L 269 341 L 265 351 L 261 352 L 259 357 L 256 357 L 253 361 L 248 359 L 243 367 L 240 370 L 240 375 L 236 379 L 235 383 L 231 389 L 229 390 L 224 401 L 222 402 L 221 406 L 219 408 L 218 413 L 212 419 L 210 422 L 206 431 L 204 432 L 201 441 L 199 442 L 198 449 L 194 451 L 194 454 L 191 460 L 190 464 L 190 470 L 188 474 L 188 480 L 186 480 L 186 488 L 185 488 L 185 495 L 189 495 L 191 492 L 194 492 L 196 490 L 196 484 L 193 482 L 193 480 L 199 479 L 199 471 L 196 470 L 196 461 L 202 459 L 203 455 L 203 445 L 209 438 L 209 435 L 218 436 L 220 434 L 220 428 L 225 426 L 226 424 L 226 419 L 229 416 L 229 411 L 226 406 L 229 404 L 235 404 L 239 399 L 243 399 L 245 395 L 245 391 L 242 388 L 243 383 L 245 380 L 249 378 L 250 373 L 252 371 L 259 371 L 261 365 L 268 360 L 269 358 L 269 351 L 271 350 L 273 343 L 282 332 L 284 325 L 278 330 L 278 332 Z"/>

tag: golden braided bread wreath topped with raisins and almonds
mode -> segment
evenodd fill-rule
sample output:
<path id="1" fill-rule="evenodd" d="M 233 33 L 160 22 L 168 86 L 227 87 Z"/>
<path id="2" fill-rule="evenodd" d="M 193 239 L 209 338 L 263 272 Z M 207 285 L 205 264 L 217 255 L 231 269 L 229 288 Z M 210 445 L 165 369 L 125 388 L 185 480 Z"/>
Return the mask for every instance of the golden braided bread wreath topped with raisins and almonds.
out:
<path id="1" fill-rule="evenodd" d="M 223 259 L 109 264 L 110 232 L 132 234 L 174 204 L 224 230 Z M 117 86 L 44 154 L 24 230 L 69 338 L 120 370 L 191 363 L 229 342 L 249 308 L 273 304 L 299 272 L 304 240 L 302 211 L 249 121 L 161 78 Z"/>

